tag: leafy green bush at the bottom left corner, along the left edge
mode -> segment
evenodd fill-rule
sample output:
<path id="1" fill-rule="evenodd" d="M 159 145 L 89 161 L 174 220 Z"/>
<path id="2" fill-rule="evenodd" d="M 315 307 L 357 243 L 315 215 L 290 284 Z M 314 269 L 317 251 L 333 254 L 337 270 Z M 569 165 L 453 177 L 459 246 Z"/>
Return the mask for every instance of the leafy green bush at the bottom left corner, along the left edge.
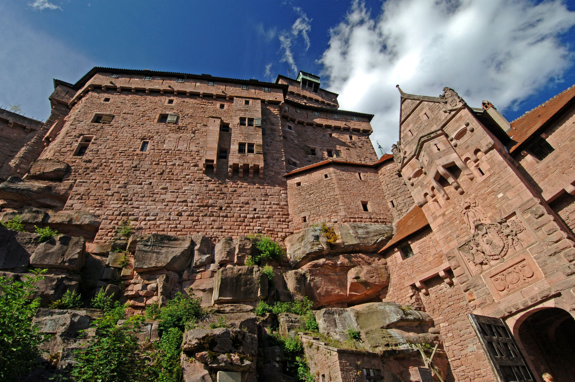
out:
<path id="1" fill-rule="evenodd" d="M 0 380 L 17 380 L 37 362 L 43 333 L 32 326 L 40 299 L 29 300 L 34 282 L 43 280 L 45 270 L 22 276 L 22 281 L 0 276 Z"/>

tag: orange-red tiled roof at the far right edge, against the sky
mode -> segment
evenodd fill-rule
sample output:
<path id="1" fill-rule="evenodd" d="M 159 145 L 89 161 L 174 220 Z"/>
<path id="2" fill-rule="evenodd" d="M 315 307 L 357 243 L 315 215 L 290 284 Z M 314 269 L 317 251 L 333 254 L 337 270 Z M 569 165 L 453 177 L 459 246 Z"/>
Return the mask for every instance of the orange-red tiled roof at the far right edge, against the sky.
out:
<path id="1" fill-rule="evenodd" d="M 523 142 L 533 135 L 551 117 L 563 108 L 575 97 L 575 85 L 562 91 L 549 101 L 537 106 L 511 123 L 511 130 L 508 135 L 512 138 L 509 152 L 516 150 Z"/>

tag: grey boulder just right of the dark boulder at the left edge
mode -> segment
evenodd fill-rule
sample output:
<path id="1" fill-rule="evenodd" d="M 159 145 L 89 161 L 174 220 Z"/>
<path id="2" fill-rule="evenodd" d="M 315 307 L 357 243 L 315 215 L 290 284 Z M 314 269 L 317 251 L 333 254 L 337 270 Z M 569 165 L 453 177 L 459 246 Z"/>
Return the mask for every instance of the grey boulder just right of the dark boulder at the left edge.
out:
<path id="1" fill-rule="evenodd" d="M 79 272 L 86 261 L 86 239 L 57 235 L 41 243 L 32 256 L 35 268 L 61 268 Z"/>

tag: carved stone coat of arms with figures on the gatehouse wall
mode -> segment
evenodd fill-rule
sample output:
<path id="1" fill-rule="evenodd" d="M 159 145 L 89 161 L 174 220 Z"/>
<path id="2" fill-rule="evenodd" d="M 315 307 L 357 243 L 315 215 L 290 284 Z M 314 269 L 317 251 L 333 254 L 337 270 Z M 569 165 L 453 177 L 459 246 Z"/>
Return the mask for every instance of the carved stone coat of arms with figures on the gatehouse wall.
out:
<path id="1" fill-rule="evenodd" d="M 523 249 L 519 234 L 525 228 L 519 219 L 498 219 L 493 223 L 474 198 L 467 198 L 461 207 L 463 220 L 473 234 L 459 251 L 469 263 L 471 273 L 481 273 L 502 261 L 505 255 Z"/>

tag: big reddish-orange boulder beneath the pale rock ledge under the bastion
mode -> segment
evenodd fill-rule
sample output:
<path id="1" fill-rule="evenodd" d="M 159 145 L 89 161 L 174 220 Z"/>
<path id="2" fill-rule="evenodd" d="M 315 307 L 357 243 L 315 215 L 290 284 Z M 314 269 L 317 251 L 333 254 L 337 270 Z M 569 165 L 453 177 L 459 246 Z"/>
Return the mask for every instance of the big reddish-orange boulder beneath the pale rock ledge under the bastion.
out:
<path id="1" fill-rule="evenodd" d="M 367 302 L 389 285 L 386 260 L 377 255 L 332 255 L 307 263 L 299 272 L 302 278 L 298 272 L 287 275 L 288 288 L 296 287 L 294 292 L 308 296 L 316 307 Z M 301 279 L 304 293 L 297 287 Z"/>

